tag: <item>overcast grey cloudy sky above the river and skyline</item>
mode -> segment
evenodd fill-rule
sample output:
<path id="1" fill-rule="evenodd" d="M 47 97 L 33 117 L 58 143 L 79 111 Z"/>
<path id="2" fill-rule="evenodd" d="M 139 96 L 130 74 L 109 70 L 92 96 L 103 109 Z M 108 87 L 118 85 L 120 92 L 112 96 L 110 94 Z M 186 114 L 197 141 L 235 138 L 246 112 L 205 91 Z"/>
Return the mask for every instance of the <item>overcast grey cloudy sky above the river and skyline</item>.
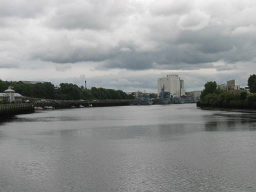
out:
<path id="1" fill-rule="evenodd" d="M 156 92 L 177 73 L 246 85 L 255 0 L 0 0 L 0 79 Z"/>

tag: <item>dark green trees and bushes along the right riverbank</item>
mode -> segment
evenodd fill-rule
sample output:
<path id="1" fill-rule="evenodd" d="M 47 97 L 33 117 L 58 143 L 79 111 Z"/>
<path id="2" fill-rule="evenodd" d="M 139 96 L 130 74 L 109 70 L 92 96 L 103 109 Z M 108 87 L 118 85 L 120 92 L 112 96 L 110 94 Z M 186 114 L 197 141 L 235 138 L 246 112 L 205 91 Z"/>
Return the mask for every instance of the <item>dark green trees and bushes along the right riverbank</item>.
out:
<path id="1" fill-rule="evenodd" d="M 200 96 L 200 103 L 215 106 L 228 105 L 230 103 L 256 105 L 256 75 L 249 76 L 247 85 L 250 93 L 241 91 L 230 93 L 227 90 L 220 90 L 215 81 L 208 81 L 204 84 L 204 89 Z"/>

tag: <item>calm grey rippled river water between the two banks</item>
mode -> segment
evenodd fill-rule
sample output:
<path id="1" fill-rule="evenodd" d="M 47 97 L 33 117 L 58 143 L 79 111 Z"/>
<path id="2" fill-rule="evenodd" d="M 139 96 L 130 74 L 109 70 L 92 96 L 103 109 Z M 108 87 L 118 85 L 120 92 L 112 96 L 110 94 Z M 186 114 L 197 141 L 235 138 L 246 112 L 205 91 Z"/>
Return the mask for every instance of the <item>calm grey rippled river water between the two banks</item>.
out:
<path id="1" fill-rule="evenodd" d="M 92 107 L 0 124 L 0 191 L 256 191 L 256 114 Z"/>

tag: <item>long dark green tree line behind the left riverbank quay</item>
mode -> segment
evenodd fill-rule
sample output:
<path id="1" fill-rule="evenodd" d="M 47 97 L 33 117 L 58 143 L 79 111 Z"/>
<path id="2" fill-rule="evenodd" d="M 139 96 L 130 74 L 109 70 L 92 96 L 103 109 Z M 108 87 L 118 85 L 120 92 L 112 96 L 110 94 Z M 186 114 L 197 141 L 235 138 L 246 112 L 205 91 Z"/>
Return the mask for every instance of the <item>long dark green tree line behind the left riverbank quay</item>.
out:
<path id="1" fill-rule="evenodd" d="M 0 92 L 7 89 L 8 86 L 13 86 L 13 90 L 23 96 L 35 98 L 48 98 L 60 100 L 74 99 L 133 99 L 134 95 L 127 95 L 122 90 L 96 88 L 81 89 L 76 84 L 60 83 L 58 87 L 54 87 L 50 82 L 24 84 L 20 82 L 7 82 L 0 80 Z"/>

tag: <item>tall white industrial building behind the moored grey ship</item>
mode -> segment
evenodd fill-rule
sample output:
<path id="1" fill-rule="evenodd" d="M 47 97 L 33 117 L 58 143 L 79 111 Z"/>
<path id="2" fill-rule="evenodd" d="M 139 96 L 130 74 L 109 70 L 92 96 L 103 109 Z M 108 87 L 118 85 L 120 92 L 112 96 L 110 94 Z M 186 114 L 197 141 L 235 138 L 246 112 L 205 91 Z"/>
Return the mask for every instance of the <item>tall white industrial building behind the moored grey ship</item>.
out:
<path id="1" fill-rule="evenodd" d="M 164 87 L 165 91 L 170 92 L 172 96 L 182 96 L 185 94 L 184 81 L 180 79 L 178 74 L 167 74 L 166 77 L 157 79 L 157 93 L 161 92 Z"/>

